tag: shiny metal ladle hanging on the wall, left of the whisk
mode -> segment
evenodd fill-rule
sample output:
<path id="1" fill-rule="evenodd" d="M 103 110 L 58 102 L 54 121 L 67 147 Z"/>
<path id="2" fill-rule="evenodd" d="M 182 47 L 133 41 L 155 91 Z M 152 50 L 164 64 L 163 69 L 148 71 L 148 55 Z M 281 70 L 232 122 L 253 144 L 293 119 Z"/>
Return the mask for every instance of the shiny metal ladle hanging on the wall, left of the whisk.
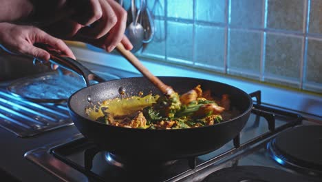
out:
<path id="1" fill-rule="evenodd" d="M 135 0 L 131 0 L 131 12 L 133 22 L 127 26 L 125 34 L 129 41 L 131 41 L 133 45 L 133 49 L 131 52 L 137 52 L 143 45 L 144 39 L 144 28 L 140 23 L 138 23 L 138 17 L 140 16 L 141 10 L 138 10 L 138 14 L 136 14 L 136 3 Z"/>

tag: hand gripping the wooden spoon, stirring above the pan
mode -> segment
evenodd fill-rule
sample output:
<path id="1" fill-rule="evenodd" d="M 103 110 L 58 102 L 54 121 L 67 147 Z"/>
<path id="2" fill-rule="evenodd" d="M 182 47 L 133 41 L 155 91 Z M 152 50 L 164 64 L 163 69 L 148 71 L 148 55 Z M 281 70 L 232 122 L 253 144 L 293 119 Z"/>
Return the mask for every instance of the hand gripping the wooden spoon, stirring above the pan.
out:
<path id="1" fill-rule="evenodd" d="M 63 3 L 63 0 L 51 1 Z M 131 50 L 133 46 L 124 35 L 127 12 L 116 1 L 70 0 L 66 3 L 58 9 L 68 9 L 73 14 L 41 28 L 55 37 L 91 43 L 107 52 L 114 50 L 120 42 Z"/>

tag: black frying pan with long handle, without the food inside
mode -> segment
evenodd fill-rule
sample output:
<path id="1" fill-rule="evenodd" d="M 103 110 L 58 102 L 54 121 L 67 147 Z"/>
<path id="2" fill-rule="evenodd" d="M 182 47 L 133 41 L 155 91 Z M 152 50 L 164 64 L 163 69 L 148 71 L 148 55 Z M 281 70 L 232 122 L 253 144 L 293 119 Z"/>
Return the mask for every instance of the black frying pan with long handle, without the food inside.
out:
<path id="1" fill-rule="evenodd" d="M 132 77 L 112 81 L 103 81 L 90 72 L 81 63 L 68 57 L 52 54 L 51 61 L 81 75 L 87 87 L 78 90 L 68 100 L 69 114 L 76 128 L 89 141 L 96 143 L 102 150 L 118 154 L 128 159 L 142 161 L 167 161 L 190 156 L 198 156 L 212 152 L 232 140 L 244 128 L 253 108 L 250 96 L 232 85 L 195 79 L 189 77 L 159 77 L 179 94 L 187 92 L 196 85 L 202 85 L 203 90 L 211 90 L 214 97 L 222 94 L 230 95 L 232 107 L 239 110 L 239 115 L 228 121 L 200 128 L 173 129 L 173 130 L 144 130 L 136 128 L 122 128 L 91 121 L 85 114 L 85 108 L 106 99 L 120 97 L 118 90 L 125 89 L 126 93 L 138 95 L 162 94 L 149 80 L 144 77 Z M 89 85 L 89 80 L 100 83 Z"/>

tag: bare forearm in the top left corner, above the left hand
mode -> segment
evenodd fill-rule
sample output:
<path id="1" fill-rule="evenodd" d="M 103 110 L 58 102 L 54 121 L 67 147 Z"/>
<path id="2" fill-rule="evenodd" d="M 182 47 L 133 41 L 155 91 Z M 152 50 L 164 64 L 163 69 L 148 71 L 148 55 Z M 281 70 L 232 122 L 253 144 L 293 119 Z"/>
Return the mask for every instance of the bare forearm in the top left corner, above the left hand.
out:
<path id="1" fill-rule="evenodd" d="M 23 21 L 32 13 L 30 0 L 0 0 L 0 22 Z"/>

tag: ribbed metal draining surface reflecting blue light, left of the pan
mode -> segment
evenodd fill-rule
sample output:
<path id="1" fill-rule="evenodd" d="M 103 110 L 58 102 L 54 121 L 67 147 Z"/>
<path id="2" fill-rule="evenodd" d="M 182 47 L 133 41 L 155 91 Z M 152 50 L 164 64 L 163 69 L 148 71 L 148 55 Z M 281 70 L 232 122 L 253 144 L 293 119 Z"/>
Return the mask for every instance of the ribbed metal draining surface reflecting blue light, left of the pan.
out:
<path id="1" fill-rule="evenodd" d="M 65 104 L 33 103 L 0 87 L 0 126 L 21 137 L 74 124 Z"/>

